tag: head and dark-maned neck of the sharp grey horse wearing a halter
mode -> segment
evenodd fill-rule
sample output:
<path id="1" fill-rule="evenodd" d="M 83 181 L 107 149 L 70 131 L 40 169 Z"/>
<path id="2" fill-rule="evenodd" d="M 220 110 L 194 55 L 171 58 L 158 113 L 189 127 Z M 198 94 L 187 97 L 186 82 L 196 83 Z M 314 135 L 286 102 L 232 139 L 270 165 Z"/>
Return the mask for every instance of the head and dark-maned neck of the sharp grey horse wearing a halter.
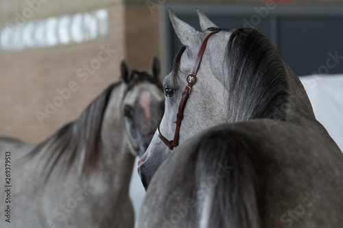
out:
<path id="1" fill-rule="evenodd" d="M 159 132 L 139 162 L 145 188 L 161 163 L 173 155 L 171 149 L 178 151 L 176 146 L 204 129 L 255 118 L 298 124 L 301 118 L 314 119 L 303 86 L 263 34 L 250 28 L 220 29 L 200 10 L 198 16 L 202 31 L 169 10 L 183 47 L 163 81 L 165 114 Z M 194 69 L 196 83 L 190 84 Z"/>

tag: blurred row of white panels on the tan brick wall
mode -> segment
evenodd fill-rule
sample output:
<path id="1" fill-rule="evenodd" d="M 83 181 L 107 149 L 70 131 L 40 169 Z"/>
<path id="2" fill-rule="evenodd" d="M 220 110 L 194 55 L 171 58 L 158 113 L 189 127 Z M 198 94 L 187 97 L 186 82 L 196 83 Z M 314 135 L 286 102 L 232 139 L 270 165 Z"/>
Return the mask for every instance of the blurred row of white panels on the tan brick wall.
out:
<path id="1" fill-rule="evenodd" d="M 21 16 L 20 14 L 17 16 Z M 23 16 L 22 16 L 23 17 Z M 95 40 L 108 35 L 108 10 L 51 17 L 39 21 L 16 18 L 1 29 L 1 49 L 16 51 Z"/>

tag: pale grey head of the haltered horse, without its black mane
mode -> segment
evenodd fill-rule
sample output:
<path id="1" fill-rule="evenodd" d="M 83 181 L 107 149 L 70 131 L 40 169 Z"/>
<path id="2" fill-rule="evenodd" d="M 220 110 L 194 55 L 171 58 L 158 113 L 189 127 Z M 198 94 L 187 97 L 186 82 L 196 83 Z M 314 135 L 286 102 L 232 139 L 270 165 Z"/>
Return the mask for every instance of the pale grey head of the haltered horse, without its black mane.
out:
<path id="1" fill-rule="evenodd" d="M 187 86 L 187 75 L 196 62 L 196 58 L 202 41 L 211 33 L 211 29 L 217 27 L 198 10 L 200 25 L 204 31 L 196 31 L 187 23 L 181 21 L 169 10 L 171 23 L 182 42 L 182 49 L 174 58 L 171 73 L 163 81 L 165 90 L 165 112 L 159 130 L 165 138 L 173 139 L 176 129 L 176 115 L 182 92 Z M 222 45 L 227 42 L 230 34 L 215 34 L 209 40 L 202 62 L 198 69 L 198 80 L 191 88 L 189 101 L 185 107 L 182 125 L 180 127 L 179 144 L 187 141 L 188 138 L 198 132 L 226 122 L 226 105 L 224 88 L 224 73 L 222 73 L 222 62 L 224 61 L 225 49 Z M 220 46 L 218 49 L 217 47 Z M 213 52 L 213 50 L 216 50 Z M 177 149 L 173 149 L 177 151 Z M 139 162 L 139 173 L 145 188 L 158 166 L 171 155 L 171 150 L 163 144 L 158 134 L 154 135 L 150 147 Z"/>

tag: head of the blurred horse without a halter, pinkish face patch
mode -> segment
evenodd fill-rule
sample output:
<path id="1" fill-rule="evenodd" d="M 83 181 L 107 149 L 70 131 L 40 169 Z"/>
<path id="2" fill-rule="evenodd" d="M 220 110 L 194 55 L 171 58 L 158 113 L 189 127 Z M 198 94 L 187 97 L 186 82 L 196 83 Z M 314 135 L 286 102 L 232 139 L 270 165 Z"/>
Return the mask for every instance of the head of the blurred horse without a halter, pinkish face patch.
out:
<path id="1" fill-rule="evenodd" d="M 154 136 L 164 112 L 163 88 L 159 79 L 160 63 L 154 58 L 151 75 L 129 71 L 121 62 L 121 79 L 126 84 L 121 105 L 128 147 L 134 155 L 143 155 Z"/>

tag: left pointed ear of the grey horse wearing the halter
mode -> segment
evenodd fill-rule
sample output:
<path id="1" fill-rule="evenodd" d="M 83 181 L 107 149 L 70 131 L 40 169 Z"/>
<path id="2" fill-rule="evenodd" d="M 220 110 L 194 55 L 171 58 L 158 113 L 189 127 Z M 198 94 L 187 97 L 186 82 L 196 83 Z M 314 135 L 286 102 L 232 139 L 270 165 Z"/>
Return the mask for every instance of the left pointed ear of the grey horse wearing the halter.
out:
<path id="1" fill-rule="evenodd" d="M 190 47 L 194 44 L 194 40 L 197 40 L 199 31 L 196 31 L 191 25 L 181 21 L 169 8 L 169 18 L 171 25 L 173 25 L 176 35 L 182 42 L 182 45 Z"/>

